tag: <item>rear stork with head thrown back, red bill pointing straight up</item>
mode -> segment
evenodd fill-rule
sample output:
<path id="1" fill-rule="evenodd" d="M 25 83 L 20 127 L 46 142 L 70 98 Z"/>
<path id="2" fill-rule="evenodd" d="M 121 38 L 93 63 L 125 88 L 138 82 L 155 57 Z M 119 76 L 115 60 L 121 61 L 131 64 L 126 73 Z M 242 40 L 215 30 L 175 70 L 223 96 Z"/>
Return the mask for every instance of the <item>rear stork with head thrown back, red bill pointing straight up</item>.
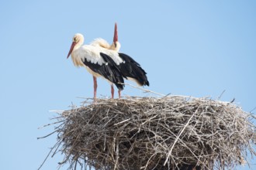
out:
<path id="1" fill-rule="evenodd" d="M 115 24 L 115 32 L 112 45 L 110 46 L 105 39 L 95 39 L 91 42 L 92 46 L 100 46 L 105 49 L 109 49 L 109 51 L 116 51 L 118 53 L 119 58 L 123 61 L 118 63 L 119 69 L 124 77 L 127 77 L 128 80 L 135 81 L 139 86 L 149 86 L 149 82 L 147 80 L 146 72 L 141 68 L 140 64 L 137 63 L 132 57 L 119 53 L 119 49 L 121 47 L 118 42 L 118 33 L 117 33 L 117 25 Z M 116 57 L 116 56 L 115 56 Z"/>

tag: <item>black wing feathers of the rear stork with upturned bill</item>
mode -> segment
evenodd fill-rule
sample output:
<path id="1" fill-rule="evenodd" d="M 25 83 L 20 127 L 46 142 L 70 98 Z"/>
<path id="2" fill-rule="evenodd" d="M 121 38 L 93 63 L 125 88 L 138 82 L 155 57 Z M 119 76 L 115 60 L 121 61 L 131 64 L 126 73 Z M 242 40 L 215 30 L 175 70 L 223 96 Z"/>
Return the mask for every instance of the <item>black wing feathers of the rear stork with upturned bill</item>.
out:
<path id="1" fill-rule="evenodd" d="M 125 63 L 121 63 L 119 65 L 121 73 L 124 77 L 131 77 L 137 80 L 141 86 L 149 86 L 146 76 L 147 73 L 141 68 L 139 63 L 124 53 L 119 53 L 119 57 L 125 61 Z"/>

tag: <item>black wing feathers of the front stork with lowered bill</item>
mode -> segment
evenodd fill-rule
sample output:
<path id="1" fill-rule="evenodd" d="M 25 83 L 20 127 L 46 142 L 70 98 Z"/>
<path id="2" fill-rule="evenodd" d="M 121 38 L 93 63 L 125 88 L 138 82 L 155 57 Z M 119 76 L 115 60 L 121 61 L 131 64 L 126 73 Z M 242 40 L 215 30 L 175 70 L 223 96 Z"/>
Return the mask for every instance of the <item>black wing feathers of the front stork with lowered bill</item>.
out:
<path id="1" fill-rule="evenodd" d="M 123 90 L 124 83 L 122 73 L 120 73 L 119 67 L 112 58 L 104 53 L 100 53 L 106 63 L 99 65 L 98 63 L 91 63 L 85 59 L 82 61 L 85 66 L 88 66 L 95 73 L 99 73 L 104 76 L 107 80 L 111 81 L 116 85 L 119 90 Z"/>

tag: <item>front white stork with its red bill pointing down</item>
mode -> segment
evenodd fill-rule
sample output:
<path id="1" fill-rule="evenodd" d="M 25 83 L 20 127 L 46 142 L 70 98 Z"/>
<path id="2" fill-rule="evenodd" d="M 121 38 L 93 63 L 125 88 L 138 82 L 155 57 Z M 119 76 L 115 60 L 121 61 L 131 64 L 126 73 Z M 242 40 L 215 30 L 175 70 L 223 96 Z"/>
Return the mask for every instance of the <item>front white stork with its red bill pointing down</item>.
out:
<path id="1" fill-rule="evenodd" d="M 118 53 L 113 50 L 104 49 L 101 46 L 84 45 L 84 36 L 80 33 L 74 35 L 71 49 L 67 58 L 71 55 L 74 66 L 84 66 L 93 76 L 94 99 L 97 93 L 97 77 L 102 77 L 111 83 L 114 83 L 119 91 L 123 90 L 123 75 L 120 73 Z M 111 57 L 110 57 L 111 56 Z M 125 76 L 124 76 L 125 77 Z M 126 77 L 125 77 L 126 78 Z M 111 88 L 112 98 L 114 97 L 113 87 Z M 120 97 L 119 93 L 119 97 Z"/>

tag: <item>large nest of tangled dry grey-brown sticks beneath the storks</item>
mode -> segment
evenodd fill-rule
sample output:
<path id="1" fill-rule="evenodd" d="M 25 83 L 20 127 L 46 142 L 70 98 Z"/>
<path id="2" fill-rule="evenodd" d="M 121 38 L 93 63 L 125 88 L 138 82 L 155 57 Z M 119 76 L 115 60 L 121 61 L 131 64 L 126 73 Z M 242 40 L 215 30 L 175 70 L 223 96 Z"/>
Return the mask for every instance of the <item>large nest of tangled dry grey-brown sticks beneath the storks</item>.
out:
<path id="1" fill-rule="evenodd" d="M 71 169 L 224 169 L 256 154 L 254 116 L 209 98 L 87 100 L 56 119 L 52 151 Z"/>

